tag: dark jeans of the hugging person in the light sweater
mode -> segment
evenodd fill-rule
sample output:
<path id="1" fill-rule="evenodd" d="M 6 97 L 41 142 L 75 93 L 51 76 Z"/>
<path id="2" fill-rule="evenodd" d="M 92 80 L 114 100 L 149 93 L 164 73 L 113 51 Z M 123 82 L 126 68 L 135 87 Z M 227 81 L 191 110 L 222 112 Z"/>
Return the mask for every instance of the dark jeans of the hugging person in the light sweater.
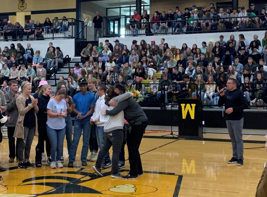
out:
<path id="1" fill-rule="evenodd" d="M 119 156 L 120 149 L 123 143 L 123 129 L 116 129 L 111 132 L 105 133 L 105 142 L 104 146 L 98 153 L 98 157 L 96 160 L 96 167 L 101 168 L 102 160 L 106 153 L 110 150 L 112 146 L 112 174 L 118 174 L 118 165 L 119 165 Z"/>

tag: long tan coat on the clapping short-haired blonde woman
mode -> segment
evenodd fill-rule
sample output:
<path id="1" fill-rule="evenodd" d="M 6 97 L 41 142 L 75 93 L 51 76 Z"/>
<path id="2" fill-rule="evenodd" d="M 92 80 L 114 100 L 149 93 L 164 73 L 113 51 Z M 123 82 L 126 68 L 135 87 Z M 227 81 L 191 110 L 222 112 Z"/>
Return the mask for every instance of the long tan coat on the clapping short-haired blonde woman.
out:
<path id="1" fill-rule="evenodd" d="M 32 100 L 34 98 L 30 95 L 29 96 Z M 25 107 L 25 101 L 26 98 L 23 96 L 23 94 L 19 95 L 19 97 L 16 99 L 16 105 L 18 107 L 19 111 L 19 118 L 15 127 L 15 132 L 13 137 L 23 139 L 24 136 L 24 129 L 23 129 L 23 121 L 25 114 L 32 109 L 32 104 L 29 104 L 27 107 Z M 39 108 L 36 106 L 34 107 L 34 115 L 35 115 L 35 136 L 38 136 L 38 125 L 37 125 L 37 116 L 36 113 L 38 113 Z"/>

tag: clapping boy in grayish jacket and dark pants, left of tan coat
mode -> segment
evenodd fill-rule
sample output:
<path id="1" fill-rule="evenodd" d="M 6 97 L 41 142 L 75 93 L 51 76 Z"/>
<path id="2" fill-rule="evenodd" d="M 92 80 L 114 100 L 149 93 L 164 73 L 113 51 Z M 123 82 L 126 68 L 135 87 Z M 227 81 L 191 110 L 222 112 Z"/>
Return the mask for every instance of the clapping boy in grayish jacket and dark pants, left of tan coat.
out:
<path id="1" fill-rule="evenodd" d="M 15 80 L 10 80 L 8 82 L 9 92 L 5 94 L 5 100 L 7 104 L 7 109 L 5 115 L 10 117 L 10 120 L 5 123 L 7 127 L 7 136 L 8 136 L 8 146 L 9 146 L 9 163 L 14 162 L 15 157 L 18 158 L 18 147 L 19 140 L 16 140 L 13 137 L 15 126 L 19 117 L 18 107 L 16 105 L 16 99 L 21 94 L 18 92 L 18 83 Z"/>

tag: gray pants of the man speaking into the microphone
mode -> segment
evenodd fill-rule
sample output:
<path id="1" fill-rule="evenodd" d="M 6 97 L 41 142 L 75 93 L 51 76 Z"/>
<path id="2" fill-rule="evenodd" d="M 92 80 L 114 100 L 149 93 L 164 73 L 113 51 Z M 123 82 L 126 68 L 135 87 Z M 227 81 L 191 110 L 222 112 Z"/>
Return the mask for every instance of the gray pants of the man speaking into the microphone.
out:
<path id="1" fill-rule="evenodd" d="M 244 146 L 242 139 L 243 123 L 244 118 L 240 120 L 226 120 L 226 125 L 232 142 L 233 157 L 242 160 L 244 160 Z"/>

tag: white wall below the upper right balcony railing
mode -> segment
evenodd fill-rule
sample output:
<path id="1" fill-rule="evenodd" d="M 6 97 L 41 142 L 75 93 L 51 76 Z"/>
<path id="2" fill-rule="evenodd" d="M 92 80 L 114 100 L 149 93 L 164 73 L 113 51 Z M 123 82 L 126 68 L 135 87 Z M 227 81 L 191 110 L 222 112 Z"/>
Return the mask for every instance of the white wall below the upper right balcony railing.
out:
<path id="1" fill-rule="evenodd" d="M 160 35 L 160 36 L 140 36 L 140 37 L 117 37 L 117 38 L 100 38 L 99 42 L 103 42 L 105 44 L 105 40 L 109 40 L 110 43 L 114 46 L 114 42 L 116 39 L 120 41 L 120 43 L 127 45 L 127 48 L 130 49 L 133 40 L 137 40 L 137 44 L 140 44 L 141 40 L 145 40 L 147 43 L 151 44 L 151 40 L 154 39 L 156 44 L 161 43 L 161 39 L 165 38 L 165 43 L 168 43 L 169 47 L 171 45 L 175 45 L 176 48 L 182 47 L 183 43 L 186 43 L 188 47 L 192 47 L 193 44 L 197 44 L 198 48 L 201 48 L 201 43 L 205 41 L 208 45 L 210 40 L 213 40 L 213 45 L 216 41 L 220 40 L 220 35 L 224 36 L 224 40 L 227 42 L 229 40 L 230 35 L 235 36 L 235 40 L 238 42 L 239 34 L 244 34 L 245 39 L 249 42 L 253 40 L 253 36 L 257 34 L 259 36 L 259 40 L 262 41 L 264 37 L 265 31 L 245 31 L 245 32 L 221 32 L 221 33 L 196 33 L 196 34 L 182 34 L 182 35 Z"/>

